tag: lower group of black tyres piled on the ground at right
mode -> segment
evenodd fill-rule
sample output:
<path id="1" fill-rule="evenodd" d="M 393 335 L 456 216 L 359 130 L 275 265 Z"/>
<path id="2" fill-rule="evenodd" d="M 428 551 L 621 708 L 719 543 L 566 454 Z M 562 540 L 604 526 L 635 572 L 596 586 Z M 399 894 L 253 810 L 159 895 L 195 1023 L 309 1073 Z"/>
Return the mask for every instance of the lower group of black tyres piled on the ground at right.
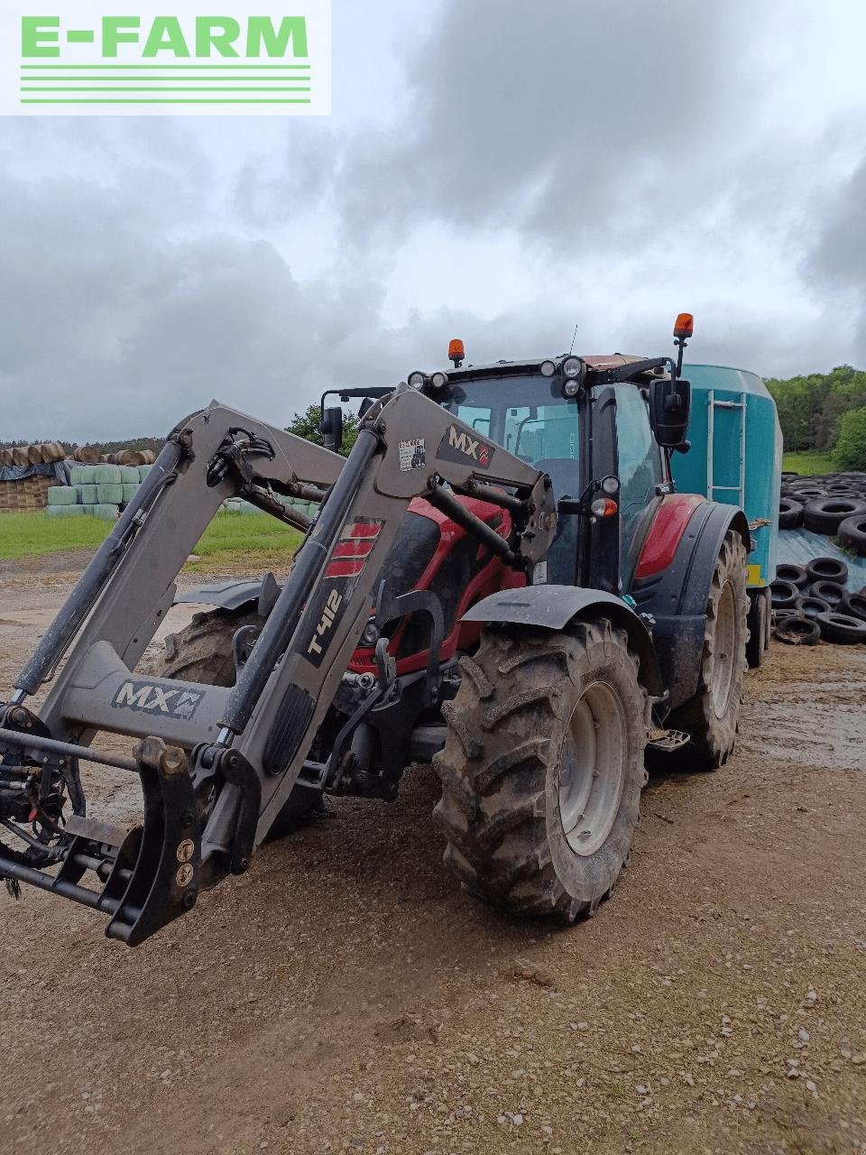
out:
<path id="1" fill-rule="evenodd" d="M 778 566 L 770 586 L 775 636 L 800 646 L 866 642 L 866 587 L 850 593 L 846 583 L 848 566 L 836 558 Z"/>

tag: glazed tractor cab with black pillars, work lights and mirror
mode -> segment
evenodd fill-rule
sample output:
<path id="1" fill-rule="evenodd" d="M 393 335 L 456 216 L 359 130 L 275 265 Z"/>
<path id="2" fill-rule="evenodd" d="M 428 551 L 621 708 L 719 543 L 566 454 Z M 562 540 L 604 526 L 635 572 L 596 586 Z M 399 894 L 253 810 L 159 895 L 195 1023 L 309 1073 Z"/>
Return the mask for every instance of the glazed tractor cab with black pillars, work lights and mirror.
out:
<path id="1" fill-rule="evenodd" d="M 476 430 L 479 444 L 550 476 L 559 524 L 544 580 L 628 589 L 655 509 L 672 492 L 670 452 L 685 440 L 689 392 L 678 364 L 621 353 L 465 368 L 453 359 L 453 371 L 416 371 L 409 385 Z"/>

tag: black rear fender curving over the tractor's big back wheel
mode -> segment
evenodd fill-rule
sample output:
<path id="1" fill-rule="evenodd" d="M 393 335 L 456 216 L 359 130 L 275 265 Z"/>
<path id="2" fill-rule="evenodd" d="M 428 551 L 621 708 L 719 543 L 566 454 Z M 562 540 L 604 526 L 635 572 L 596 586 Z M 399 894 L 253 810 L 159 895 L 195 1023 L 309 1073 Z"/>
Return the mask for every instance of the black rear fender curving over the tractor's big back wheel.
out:
<path id="1" fill-rule="evenodd" d="M 731 529 L 749 550 L 752 538 L 742 511 L 702 501 L 688 519 L 665 568 L 636 579 L 629 590 L 637 611 L 654 619 L 652 641 L 669 691 L 667 710 L 697 692 L 710 583 L 722 543 Z"/>

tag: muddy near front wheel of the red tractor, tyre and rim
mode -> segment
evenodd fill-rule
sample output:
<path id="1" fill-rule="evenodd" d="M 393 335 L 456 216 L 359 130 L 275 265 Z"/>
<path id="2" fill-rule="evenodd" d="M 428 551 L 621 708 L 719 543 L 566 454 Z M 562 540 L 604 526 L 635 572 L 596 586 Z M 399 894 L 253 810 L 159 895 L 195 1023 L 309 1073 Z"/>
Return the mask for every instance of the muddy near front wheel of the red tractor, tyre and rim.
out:
<path id="1" fill-rule="evenodd" d="M 487 628 L 443 707 L 434 815 L 445 862 L 515 915 L 592 915 L 628 857 L 647 781 L 649 699 L 606 619 Z"/>

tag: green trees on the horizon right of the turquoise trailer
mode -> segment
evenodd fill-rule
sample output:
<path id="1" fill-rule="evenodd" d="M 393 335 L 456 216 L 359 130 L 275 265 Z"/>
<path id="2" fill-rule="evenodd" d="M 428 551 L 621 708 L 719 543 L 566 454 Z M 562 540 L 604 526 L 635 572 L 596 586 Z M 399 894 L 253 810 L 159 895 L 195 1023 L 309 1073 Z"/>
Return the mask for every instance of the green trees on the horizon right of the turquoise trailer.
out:
<path id="1" fill-rule="evenodd" d="M 829 373 L 768 378 L 785 449 L 829 452 L 839 469 L 866 469 L 866 372 L 837 365 Z"/>

